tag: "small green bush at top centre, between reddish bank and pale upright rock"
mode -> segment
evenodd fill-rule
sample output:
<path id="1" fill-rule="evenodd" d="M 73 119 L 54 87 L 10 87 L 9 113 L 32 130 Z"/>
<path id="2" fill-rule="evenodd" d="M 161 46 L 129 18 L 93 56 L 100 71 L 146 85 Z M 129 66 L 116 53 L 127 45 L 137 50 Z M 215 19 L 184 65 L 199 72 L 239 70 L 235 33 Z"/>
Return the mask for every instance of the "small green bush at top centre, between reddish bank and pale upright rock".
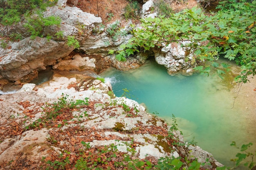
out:
<path id="1" fill-rule="evenodd" d="M 140 7 L 138 1 L 130 1 L 124 8 L 124 18 L 138 19 L 140 14 Z"/>

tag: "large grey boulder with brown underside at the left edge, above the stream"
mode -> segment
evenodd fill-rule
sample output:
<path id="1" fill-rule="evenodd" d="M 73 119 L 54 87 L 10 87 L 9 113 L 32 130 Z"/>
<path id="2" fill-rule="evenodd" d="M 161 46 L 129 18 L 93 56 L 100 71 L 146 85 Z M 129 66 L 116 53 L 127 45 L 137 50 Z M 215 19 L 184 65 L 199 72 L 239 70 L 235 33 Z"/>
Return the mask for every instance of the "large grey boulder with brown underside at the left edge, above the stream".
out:
<path id="1" fill-rule="evenodd" d="M 11 52 L 3 51 L 5 57 L 0 61 L 0 74 L 9 81 L 36 78 L 38 71 L 44 70 L 53 60 L 68 55 L 73 50 L 63 46 L 64 42 L 39 37 L 34 40 L 25 38 L 20 42 L 14 42 Z"/>

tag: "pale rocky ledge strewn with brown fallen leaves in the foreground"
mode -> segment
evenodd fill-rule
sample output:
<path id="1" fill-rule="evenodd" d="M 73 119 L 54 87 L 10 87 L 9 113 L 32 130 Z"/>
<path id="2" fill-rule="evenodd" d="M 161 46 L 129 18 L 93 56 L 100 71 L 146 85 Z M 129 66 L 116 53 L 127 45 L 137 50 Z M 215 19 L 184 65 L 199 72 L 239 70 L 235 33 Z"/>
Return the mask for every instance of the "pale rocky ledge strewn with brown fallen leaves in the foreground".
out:
<path id="1" fill-rule="evenodd" d="M 161 157 L 178 158 L 184 167 L 197 159 L 200 170 L 221 166 L 175 127 L 93 77 L 54 75 L 0 95 L 0 105 L 0 170 L 149 169 Z"/>

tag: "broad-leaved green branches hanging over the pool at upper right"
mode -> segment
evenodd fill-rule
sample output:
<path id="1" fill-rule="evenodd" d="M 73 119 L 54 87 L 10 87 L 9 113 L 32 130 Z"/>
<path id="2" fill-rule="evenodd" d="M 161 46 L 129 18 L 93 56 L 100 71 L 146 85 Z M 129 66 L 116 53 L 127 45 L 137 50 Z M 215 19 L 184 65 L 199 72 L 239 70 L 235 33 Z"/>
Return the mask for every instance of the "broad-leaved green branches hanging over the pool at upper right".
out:
<path id="1" fill-rule="evenodd" d="M 246 83 L 248 75 L 256 74 L 256 0 L 224 0 L 217 9 L 217 13 L 206 14 L 194 7 L 171 13 L 169 18 L 142 19 L 141 27 L 132 31 L 134 37 L 117 51 L 117 60 L 171 42 L 190 41 L 186 45 L 195 49 L 195 59 L 210 62 L 196 70 L 208 75 L 213 67 L 219 75 L 224 74 L 220 66 L 225 70 L 228 65 L 215 62 L 222 54 L 241 66 L 236 80 Z"/>

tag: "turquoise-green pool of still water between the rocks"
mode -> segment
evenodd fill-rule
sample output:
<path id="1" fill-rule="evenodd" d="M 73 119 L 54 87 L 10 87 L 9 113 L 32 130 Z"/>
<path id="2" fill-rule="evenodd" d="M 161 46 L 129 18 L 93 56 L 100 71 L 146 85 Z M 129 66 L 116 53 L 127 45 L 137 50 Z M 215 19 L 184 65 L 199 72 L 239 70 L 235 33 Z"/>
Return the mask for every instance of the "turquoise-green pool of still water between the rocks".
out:
<path id="1" fill-rule="evenodd" d="M 223 86 L 218 76 L 170 76 L 163 66 L 154 61 L 138 69 L 117 71 L 110 69 L 101 74 L 110 81 L 115 95 L 121 96 L 124 88 L 131 99 L 144 103 L 149 113 L 172 123 L 177 118 L 184 140 L 195 137 L 198 146 L 210 152 L 228 166 L 239 150 L 231 147 L 232 141 L 247 144 L 255 141 L 255 130 L 248 130 L 248 119 L 242 107 L 235 107 L 234 93 Z"/>

